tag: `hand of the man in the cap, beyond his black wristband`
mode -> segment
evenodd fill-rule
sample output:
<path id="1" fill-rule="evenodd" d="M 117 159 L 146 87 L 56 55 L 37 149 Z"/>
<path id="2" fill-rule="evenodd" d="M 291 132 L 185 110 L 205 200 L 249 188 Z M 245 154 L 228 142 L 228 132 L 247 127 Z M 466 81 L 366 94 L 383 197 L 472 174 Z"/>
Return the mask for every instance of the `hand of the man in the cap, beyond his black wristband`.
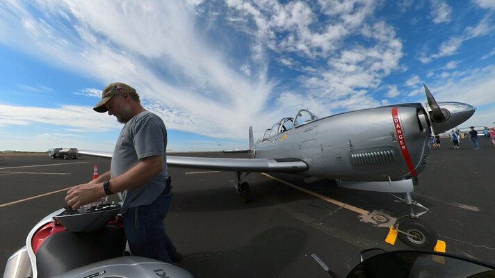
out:
<path id="1" fill-rule="evenodd" d="M 67 196 L 65 196 L 65 202 L 68 206 L 74 209 L 78 209 L 85 204 L 90 204 L 96 202 L 102 197 L 105 197 L 105 190 L 103 189 L 103 183 L 83 183 L 74 186 L 69 191 L 67 191 Z"/>

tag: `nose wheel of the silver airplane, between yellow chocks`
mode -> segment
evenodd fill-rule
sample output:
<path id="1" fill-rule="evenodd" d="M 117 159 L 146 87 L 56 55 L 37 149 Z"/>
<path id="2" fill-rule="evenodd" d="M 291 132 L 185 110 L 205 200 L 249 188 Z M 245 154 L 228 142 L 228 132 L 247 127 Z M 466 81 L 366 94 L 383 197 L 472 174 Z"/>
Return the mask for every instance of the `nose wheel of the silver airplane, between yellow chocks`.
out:
<path id="1" fill-rule="evenodd" d="M 437 244 L 437 236 L 432 228 L 416 219 L 408 219 L 399 223 L 398 229 L 411 236 L 399 233 L 400 240 L 417 250 L 432 251 Z"/>

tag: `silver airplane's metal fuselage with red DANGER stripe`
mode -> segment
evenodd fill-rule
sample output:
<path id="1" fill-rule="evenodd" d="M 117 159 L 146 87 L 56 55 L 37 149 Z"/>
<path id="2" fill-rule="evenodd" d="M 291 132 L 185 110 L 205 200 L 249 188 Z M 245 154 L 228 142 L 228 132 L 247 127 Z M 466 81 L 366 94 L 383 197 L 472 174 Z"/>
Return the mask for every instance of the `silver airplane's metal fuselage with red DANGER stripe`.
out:
<path id="1" fill-rule="evenodd" d="M 332 115 L 266 138 L 256 158 L 298 158 L 307 177 L 389 181 L 416 177 L 430 157 L 430 126 L 421 104 Z"/>

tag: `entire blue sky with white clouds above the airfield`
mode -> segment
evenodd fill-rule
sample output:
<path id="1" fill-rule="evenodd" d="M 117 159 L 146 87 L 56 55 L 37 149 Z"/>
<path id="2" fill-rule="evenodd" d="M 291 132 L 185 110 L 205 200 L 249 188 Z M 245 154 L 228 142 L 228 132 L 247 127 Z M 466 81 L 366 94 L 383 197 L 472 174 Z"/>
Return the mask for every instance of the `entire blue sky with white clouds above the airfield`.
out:
<path id="1" fill-rule="evenodd" d="M 495 0 L 0 2 L 0 150 L 111 151 L 132 85 L 175 151 L 243 149 L 282 117 L 405 102 L 494 126 Z M 464 126 L 463 125 L 463 126 Z"/>

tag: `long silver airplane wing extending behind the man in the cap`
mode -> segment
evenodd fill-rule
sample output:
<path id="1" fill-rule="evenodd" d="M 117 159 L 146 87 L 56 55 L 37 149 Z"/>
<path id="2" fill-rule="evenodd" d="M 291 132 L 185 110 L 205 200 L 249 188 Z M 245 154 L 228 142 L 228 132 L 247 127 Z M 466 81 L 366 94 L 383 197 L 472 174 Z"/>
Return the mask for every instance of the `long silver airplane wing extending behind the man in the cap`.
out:
<path id="1" fill-rule="evenodd" d="M 111 152 L 80 150 L 79 154 L 112 158 Z M 194 156 L 167 156 L 167 165 L 239 172 L 302 172 L 307 163 L 298 158 L 213 158 Z"/>

